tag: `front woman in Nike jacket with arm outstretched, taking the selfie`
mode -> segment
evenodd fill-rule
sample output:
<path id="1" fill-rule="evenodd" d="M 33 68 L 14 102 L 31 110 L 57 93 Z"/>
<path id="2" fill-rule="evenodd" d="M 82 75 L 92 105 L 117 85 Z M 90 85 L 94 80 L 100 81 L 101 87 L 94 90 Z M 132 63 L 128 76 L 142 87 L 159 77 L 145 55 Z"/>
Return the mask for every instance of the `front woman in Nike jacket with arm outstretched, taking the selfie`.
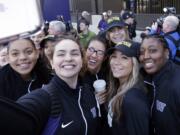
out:
<path id="1" fill-rule="evenodd" d="M 82 66 L 79 44 L 70 38 L 58 41 L 52 59 L 56 75 L 42 89 L 18 100 L 39 120 L 39 134 L 95 135 L 97 102 L 90 87 L 80 79 Z"/>

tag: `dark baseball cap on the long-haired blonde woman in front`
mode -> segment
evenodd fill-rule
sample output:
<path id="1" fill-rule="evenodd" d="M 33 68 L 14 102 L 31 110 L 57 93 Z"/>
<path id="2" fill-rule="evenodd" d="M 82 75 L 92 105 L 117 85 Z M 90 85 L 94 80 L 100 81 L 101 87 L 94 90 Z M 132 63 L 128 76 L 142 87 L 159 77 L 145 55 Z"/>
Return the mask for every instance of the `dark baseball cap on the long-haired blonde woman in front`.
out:
<path id="1" fill-rule="evenodd" d="M 111 55 L 115 50 L 122 52 L 124 55 L 128 57 L 136 57 L 139 56 L 140 43 L 125 40 L 116 44 L 116 46 L 111 47 L 107 50 L 107 55 Z"/>

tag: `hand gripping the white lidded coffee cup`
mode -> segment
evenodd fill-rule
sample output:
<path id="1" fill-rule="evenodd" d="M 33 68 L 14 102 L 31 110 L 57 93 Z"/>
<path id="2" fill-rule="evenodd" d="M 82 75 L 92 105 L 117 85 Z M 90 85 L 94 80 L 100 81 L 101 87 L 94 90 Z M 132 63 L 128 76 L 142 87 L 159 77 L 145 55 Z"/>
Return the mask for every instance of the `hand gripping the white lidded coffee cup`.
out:
<path id="1" fill-rule="evenodd" d="M 107 98 L 106 90 L 95 93 L 95 96 L 100 105 L 106 102 L 106 98 Z"/>

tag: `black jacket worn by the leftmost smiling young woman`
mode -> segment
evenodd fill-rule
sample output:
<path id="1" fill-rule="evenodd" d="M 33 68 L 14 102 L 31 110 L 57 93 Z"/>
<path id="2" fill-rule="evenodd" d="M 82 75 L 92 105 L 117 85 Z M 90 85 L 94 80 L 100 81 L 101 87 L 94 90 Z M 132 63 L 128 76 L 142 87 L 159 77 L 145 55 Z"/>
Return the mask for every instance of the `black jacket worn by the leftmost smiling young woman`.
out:
<path id="1" fill-rule="evenodd" d="M 34 89 L 41 88 L 49 80 L 50 77 L 44 78 L 41 74 L 33 72 L 33 79 L 24 81 L 8 64 L 0 69 L 0 96 L 17 100 L 22 95 Z"/>

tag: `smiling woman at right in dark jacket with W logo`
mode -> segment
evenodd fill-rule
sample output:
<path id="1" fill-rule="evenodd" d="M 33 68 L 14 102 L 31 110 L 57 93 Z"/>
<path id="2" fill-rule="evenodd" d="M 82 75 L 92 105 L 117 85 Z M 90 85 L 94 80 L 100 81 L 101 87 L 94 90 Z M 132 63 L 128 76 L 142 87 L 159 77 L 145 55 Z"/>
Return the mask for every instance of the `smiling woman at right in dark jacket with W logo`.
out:
<path id="1" fill-rule="evenodd" d="M 179 135 L 180 67 L 169 60 L 169 48 L 160 35 L 142 41 L 139 60 L 150 88 L 151 119 L 156 135 Z"/>

